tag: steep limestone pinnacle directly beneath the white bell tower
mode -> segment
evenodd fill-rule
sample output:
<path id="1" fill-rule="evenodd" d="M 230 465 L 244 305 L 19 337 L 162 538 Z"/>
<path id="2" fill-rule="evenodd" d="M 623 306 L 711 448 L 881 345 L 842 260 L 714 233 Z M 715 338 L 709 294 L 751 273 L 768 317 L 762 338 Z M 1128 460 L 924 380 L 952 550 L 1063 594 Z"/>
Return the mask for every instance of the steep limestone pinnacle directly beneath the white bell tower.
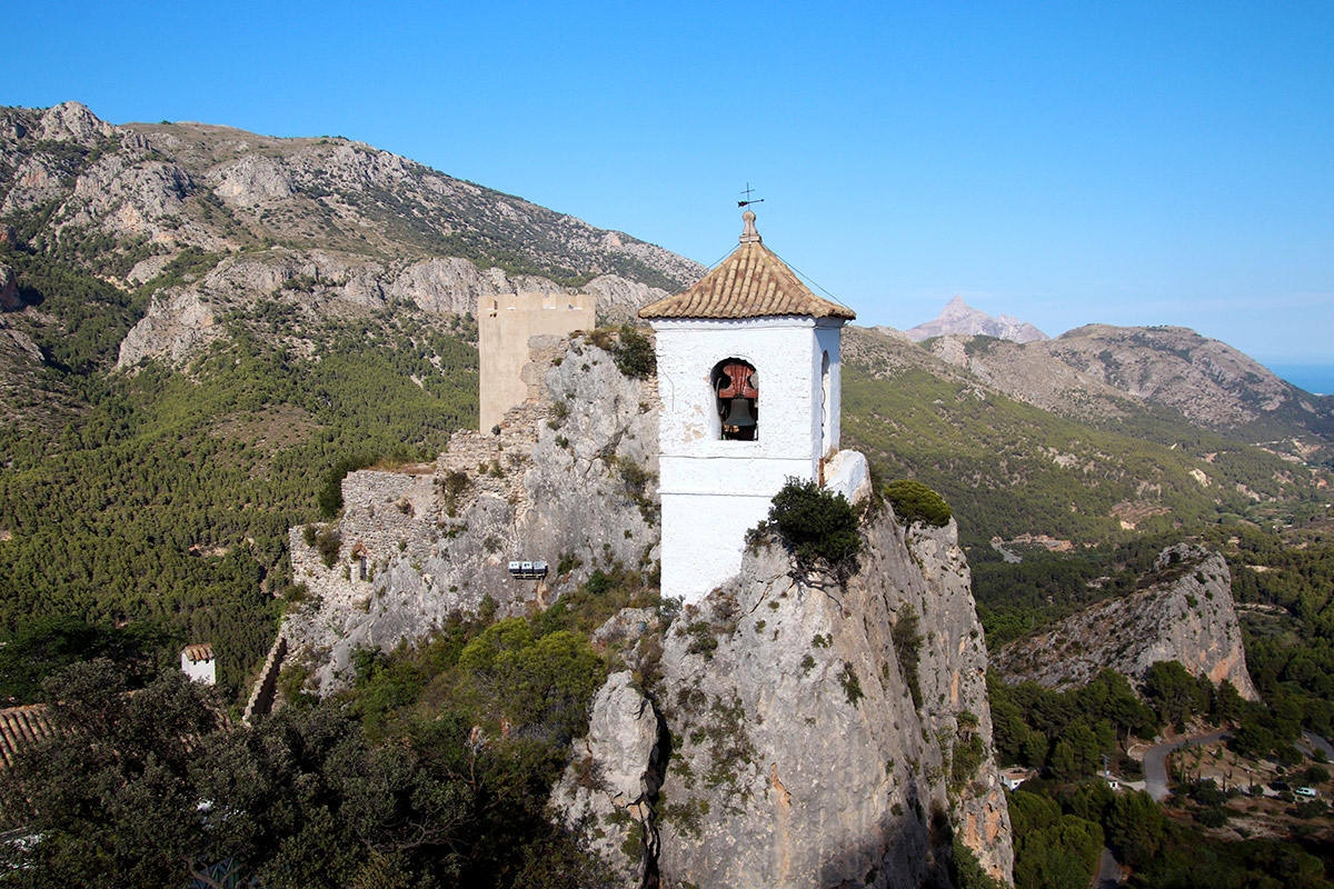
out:
<path id="1" fill-rule="evenodd" d="M 867 538 L 846 585 L 771 541 L 672 622 L 652 689 L 671 738 L 654 817 L 619 830 L 603 818 L 603 845 L 646 836 L 663 885 L 920 886 L 947 885 L 958 833 L 1009 882 L 986 648 L 956 530 L 884 513 Z M 916 624 L 900 633 L 915 656 L 895 646 L 900 621 Z"/>

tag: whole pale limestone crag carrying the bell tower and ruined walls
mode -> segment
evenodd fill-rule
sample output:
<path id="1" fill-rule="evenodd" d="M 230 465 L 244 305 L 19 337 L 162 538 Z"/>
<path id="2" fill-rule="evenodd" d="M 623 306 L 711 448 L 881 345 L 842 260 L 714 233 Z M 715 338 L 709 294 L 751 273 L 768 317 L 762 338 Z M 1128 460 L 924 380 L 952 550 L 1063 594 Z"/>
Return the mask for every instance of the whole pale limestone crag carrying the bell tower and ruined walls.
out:
<path id="1" fill-rule="evenodd" d="M 312 689 L 346 682 L 356 648 L 392 648 L 487 598 L 530 613 L 595 566 L 651 568 L 655 381 L 622 376 L 598 343 L 534 337 L 530 399 L 499 435 L 456 433 L 434 466 L 351 473 L 336 522 L 292 529 L 309 600 L 281 636 Z M 956 529 L 884 508 L 864 534 L 843 582 L 768 540 L 668 625 L 627 609 L 594 634 L 642 682 L 607 681 L 554 805 L 622 885 L 948 885 L 955 837 L 1009 881 Z M 511 558 L 551 573 L 512 580 Z"/>

